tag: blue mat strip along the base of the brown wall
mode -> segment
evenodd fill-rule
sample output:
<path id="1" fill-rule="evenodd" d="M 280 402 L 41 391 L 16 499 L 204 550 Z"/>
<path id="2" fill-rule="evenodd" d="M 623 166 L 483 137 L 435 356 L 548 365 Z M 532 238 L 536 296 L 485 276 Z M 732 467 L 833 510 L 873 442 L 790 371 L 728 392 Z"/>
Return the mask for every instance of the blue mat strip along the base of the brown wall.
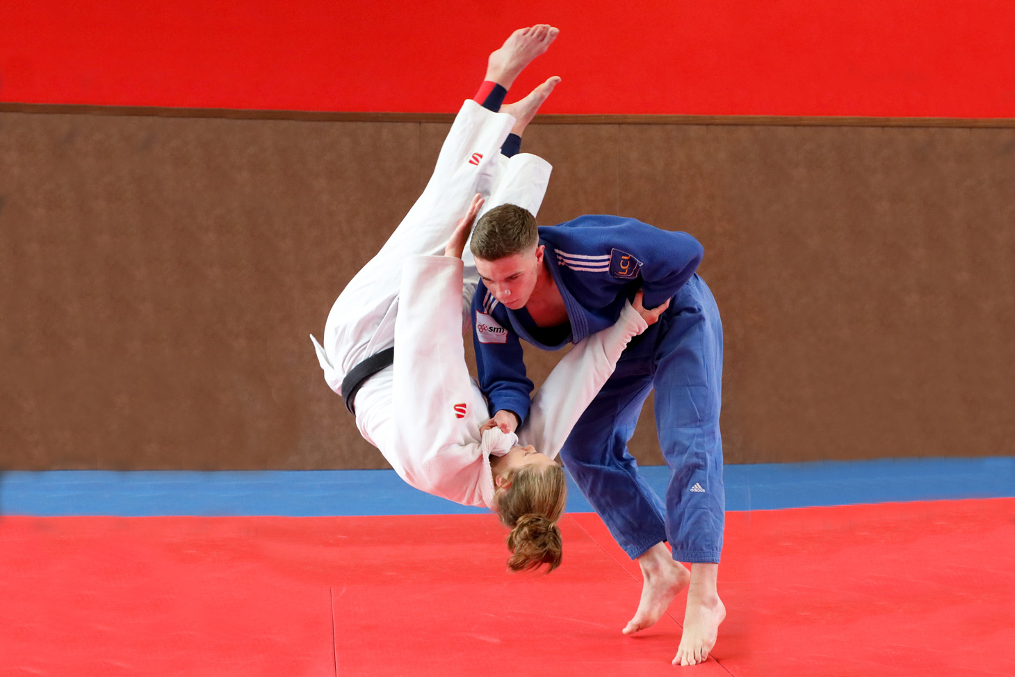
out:
<path id="1" fill-rule="evenodd" d="M 665 466 L 640 469 L 662 496 Z M 726 466 L 728 510 L 1015 497 L 1015 457 Z M 567 510 L 591 511 L 568 478 Z M 485 512 L 436 498 L 394 471 L 12 471 L 0 514 L 371 515 Z"/>

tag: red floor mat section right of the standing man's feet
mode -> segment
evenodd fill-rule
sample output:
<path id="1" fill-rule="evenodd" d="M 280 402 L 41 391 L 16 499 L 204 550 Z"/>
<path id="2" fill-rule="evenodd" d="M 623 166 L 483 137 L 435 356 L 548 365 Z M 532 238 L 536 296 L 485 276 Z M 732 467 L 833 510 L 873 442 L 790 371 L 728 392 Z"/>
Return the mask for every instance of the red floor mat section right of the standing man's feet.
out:
<path id="1" fill-rule="evenodd" d="M 720 594 L 737 677 L 1011 677 L 1015 499 L 730 512 Z"/>

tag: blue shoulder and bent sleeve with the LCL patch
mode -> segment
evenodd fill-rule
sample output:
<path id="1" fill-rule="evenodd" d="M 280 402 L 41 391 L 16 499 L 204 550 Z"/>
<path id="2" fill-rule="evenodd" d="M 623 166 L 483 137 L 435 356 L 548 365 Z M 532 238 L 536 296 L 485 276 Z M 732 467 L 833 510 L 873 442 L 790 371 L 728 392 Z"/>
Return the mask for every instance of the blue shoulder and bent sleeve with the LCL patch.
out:
<path id="1" fill-rule="evenodd" d="M 583 228 L 584 220 L 592 227 Z M 687 233 L 664 231 L 636 219 L 591 216 L 570 223 L 578 227 L 572 237 L 589 237 L 587 242 L 594 241 L 598 251 L 610 253 L 613 278 L 625 282 L 640 278 L 646 308 L 672 298 L 694 274 L 704 255 L 701 244 Z M 635 259 L 636 269 L 630 267 L 625 255 Z"/>

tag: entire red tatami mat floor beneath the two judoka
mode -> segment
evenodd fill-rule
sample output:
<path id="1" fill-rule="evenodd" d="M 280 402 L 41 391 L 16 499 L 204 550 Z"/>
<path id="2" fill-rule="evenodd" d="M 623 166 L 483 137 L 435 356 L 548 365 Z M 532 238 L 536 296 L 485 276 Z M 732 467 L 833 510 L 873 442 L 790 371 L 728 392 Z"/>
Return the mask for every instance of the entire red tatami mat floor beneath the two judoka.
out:
<path id="1" fill-rule="evenodd" d="M 595 515 L 504 571 L 488 515 L 3 517 L 0 675 L 1012 675 L 1015 499 L 728 514 L 703 666 L 638 638 Z"/>

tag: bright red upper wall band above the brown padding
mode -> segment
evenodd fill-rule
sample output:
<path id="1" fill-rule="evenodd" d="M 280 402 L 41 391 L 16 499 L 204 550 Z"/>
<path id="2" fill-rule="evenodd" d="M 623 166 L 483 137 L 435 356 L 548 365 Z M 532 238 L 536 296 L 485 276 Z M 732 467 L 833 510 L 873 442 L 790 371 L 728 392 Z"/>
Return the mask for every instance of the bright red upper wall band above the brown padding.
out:
<path id="1" fill-rule="evenodd" d="M 543 21 L 546 113 L 1015 117 L 1011 0 L 633 4 L 4 0 L 0 101 L 452 112 Z"/>

